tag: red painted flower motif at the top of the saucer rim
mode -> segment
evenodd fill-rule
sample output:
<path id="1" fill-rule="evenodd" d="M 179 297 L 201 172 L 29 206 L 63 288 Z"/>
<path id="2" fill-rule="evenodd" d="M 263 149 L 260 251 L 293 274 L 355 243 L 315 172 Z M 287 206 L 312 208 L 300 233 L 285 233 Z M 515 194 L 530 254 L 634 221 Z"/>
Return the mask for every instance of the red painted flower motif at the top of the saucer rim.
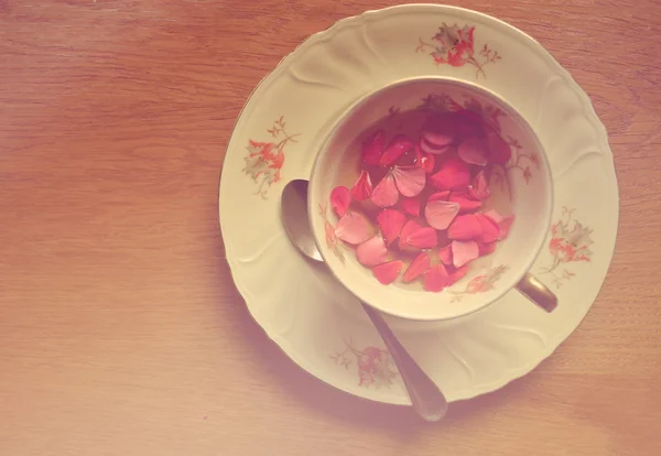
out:
<path id="1" fill-rule="evenodd" d="M 454 67 L 472 65 L 476 68 L 476 78 L 479 78 L 479 75 L 487 77 L 484 66 L 501 59 L 498 52 L 490 50 L 487 44 L 476 55 L 475 26 L 459 28 L 456 23 L 448 25 L 443 22 L 430 43 L 419 40 L 415 51 L 426 52 L 436 65 L 446 64 Z"/>

